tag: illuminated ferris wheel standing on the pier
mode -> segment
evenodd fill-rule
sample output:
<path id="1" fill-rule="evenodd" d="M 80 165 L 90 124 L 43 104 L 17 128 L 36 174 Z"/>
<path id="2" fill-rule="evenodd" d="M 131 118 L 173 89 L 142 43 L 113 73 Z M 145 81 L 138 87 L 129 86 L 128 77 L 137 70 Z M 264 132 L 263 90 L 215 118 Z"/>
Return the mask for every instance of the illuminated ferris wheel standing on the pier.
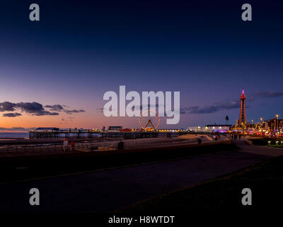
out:
<path id="1" fill-rule="evenodd" d="M 151 116 L 154 114 L 154 116 Z M 139 116 L 139 126 L 145 131 L 155 131 L 160 124 L 160 116 L 153 110 L 147 110 Z"/>

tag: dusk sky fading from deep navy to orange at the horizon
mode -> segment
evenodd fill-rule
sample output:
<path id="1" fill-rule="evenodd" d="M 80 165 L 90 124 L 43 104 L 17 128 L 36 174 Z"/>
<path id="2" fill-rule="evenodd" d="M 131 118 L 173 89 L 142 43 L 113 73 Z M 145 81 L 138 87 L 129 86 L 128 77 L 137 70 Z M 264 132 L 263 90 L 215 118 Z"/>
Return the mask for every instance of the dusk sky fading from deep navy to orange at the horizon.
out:
<path id="1" fill-rule="evenodd" d="M 103 94 L 120 85 L 180 91 L 170 128 L 236 123 L 242 89 L 247 121 L 283 117 L 283 2 L 231 2 L 2 0 L 0 131 L 137 127 L 103 116 Z M 245 3 L 253 21 L 241 20 Z"/>

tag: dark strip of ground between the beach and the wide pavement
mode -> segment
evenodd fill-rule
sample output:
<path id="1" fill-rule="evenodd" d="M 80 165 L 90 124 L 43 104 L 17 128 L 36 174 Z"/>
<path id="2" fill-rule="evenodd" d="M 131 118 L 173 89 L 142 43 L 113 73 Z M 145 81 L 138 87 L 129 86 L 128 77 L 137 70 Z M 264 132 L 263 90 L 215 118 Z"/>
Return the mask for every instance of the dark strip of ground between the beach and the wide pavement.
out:
<path id="1" fill-rule="evenodd" d="M 236 150 L 231 141 L 135 150 L 0 157 L 0 184 Z"/>

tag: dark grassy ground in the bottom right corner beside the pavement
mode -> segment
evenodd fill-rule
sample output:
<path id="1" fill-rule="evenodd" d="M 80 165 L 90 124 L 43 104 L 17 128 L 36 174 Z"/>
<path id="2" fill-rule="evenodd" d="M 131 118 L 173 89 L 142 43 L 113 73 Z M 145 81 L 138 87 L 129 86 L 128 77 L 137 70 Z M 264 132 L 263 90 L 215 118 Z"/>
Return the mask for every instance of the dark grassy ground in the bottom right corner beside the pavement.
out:
<path id="1" fill-rule="evenodd" d="M 243 206 L 243 188 L 252 190 L 252 205 Z M 157 196 L 117 214 L 189 214 L 190 211 L 278 211 L 283 202 L 283 156 L 192 187 Z M 261 213 L 260 213 L 261 214 Z"/>

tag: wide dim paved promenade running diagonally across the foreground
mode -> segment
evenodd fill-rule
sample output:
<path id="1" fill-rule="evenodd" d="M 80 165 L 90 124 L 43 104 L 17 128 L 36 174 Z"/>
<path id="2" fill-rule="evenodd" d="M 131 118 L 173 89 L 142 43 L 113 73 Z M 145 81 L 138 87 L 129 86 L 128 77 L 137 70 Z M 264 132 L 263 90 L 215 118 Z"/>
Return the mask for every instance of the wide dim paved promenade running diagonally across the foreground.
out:
<path id="1" fill-rule="evenodd" d="M 235 143 L 242 150 L 0 185 L 0 212 L 111 212 L 279 155 Z M 30 206 L 31 188 L 40 206 Z"/>

